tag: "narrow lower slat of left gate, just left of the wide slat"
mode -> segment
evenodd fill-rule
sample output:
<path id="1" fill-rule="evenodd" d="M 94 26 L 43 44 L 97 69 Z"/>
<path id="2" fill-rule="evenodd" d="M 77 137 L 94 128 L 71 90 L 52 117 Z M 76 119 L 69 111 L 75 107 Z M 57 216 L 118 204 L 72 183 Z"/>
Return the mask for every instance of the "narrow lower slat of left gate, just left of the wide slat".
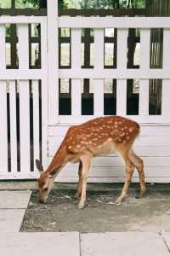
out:
<path id="1" fill-rule="evenodd" d="M 11 172 L 17 172 L 16 84 L 9 81 Z"/>

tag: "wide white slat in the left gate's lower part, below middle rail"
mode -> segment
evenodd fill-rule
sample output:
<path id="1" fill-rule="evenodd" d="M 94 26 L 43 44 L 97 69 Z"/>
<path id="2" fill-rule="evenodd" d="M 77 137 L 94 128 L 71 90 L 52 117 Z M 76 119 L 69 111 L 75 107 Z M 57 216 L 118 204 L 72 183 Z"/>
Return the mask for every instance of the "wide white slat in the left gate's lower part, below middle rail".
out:
<path id="1" fill-rule="evenodd" d="M 20 172 L 29 173 L 30 169 L 29 81 L 20 80 Z"/>

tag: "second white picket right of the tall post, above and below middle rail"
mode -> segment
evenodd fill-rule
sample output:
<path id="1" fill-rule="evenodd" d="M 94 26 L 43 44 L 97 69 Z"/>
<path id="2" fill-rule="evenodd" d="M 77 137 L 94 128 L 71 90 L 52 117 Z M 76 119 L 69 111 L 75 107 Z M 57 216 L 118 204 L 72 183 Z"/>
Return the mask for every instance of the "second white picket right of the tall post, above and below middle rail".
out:
<path id="1" fill-rule="evenodd" d="M 94 30 L 94 70 L 104 69 L 104 29 Z M 94 79 L 94 115 L 104 114 L 104 79 Z"/>

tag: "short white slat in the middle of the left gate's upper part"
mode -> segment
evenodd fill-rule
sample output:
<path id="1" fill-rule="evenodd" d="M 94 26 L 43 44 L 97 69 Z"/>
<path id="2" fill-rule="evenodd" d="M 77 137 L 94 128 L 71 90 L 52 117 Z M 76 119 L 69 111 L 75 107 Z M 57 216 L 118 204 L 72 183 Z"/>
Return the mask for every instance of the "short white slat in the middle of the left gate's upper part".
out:
<path id="1" fill-rule="evenodd" d="M 18 55 L 19 55 L 19 69 L 29 69 L 29 38 L 28 38 L 28 25 L 18 26 Z"/>

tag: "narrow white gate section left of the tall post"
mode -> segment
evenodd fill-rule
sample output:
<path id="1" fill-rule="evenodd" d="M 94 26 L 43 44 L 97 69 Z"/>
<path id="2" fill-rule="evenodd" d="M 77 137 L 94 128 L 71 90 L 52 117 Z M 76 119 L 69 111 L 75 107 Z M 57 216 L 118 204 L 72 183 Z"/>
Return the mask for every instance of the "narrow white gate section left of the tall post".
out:
<path id="1" fill-rule="evenodd" d="M 31 64 L 29 35 L 35 24 L 41 35 L 39 67 Z M 8 56 L 12 51 L 9 45 L 14 47 L 9 44 L 10 30 L 15 30 L 17 35 L 18 57 L 15 63 Z M 36 177 L 36 158 L 47 165 L 47 62 L 46 17 L 0 17 L 0 179 Z"/>

